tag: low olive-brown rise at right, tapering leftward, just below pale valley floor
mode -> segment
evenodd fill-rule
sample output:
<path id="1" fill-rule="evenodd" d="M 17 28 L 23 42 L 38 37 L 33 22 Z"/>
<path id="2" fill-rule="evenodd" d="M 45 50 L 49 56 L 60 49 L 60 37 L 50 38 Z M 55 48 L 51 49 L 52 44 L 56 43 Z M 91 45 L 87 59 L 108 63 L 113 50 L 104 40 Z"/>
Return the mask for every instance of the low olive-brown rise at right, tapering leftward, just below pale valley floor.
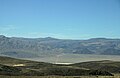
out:
<path id="1" fill-rule="evenodd" d="M 103 70 L 111 73 L 120 73 L 120 62 L 103 60 L 103 61 L 90 61 L 83 63 L 72 64 L 72 66 L 83 67 L 94 70 Z"/>

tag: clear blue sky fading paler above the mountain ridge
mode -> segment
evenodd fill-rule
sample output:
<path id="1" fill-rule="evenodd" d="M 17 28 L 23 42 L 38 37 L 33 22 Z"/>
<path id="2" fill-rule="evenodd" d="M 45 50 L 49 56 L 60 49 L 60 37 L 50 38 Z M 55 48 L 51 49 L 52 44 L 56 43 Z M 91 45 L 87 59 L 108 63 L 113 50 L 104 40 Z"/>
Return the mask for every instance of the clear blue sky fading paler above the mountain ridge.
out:
<path id="1" fill-rule="evenodd" d="M 120 0 L 0 0 L 0 35 L 120 38 Z"/>

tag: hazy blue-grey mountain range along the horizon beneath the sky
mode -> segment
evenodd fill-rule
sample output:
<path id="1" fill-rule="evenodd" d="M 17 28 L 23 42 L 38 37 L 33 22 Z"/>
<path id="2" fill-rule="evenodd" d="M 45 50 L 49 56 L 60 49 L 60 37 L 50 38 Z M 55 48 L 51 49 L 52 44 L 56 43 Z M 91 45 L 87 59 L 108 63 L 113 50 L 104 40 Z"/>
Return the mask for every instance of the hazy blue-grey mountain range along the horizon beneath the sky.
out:
<path id="1" fill-rule="evenodd" d="M 120 39 L 68 40 L 51 37 L 18 38 L 0 35 L 1 55 L 31 58 L 59 53 L 120 55 Z"/>

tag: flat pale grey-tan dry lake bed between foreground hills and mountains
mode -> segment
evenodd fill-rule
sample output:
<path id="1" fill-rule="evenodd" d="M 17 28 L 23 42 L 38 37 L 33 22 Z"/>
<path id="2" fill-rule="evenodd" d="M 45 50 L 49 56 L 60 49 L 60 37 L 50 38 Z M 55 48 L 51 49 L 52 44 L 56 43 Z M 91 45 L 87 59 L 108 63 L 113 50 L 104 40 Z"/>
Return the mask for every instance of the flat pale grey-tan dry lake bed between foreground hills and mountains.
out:
<path id="1" fill-rule="evenodd" d="M 49 55 L 45 57 L 37 58 L 23 58 L 33 61 L 42 61 L 55 64 L 71 64 L 86 61 L 99 61 L 99 60 L 112 60 L 120 61 L 119 55 L 91 55 L 91 54 L 59 54 L 59 55 Z"/>

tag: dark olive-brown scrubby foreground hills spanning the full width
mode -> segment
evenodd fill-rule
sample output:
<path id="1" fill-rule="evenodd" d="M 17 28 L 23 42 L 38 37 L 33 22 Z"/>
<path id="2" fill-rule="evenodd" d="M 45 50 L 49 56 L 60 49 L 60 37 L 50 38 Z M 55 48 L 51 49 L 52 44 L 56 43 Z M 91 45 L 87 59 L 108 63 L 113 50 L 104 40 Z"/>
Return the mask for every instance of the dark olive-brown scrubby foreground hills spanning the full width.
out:
<path id="1" fill-rule="evenodd" d="M 3 61 L 4 60 L 4 61 Z M 100 66 L 100 67 L 96 67 Z M 104 66 L 104 69 L 102 68 Z M 120 73 L 120 62 L 93 61 L 70 65 L 20 60 L 0 56 L 0 75 L 7 76 L 113 76 Z"/>

